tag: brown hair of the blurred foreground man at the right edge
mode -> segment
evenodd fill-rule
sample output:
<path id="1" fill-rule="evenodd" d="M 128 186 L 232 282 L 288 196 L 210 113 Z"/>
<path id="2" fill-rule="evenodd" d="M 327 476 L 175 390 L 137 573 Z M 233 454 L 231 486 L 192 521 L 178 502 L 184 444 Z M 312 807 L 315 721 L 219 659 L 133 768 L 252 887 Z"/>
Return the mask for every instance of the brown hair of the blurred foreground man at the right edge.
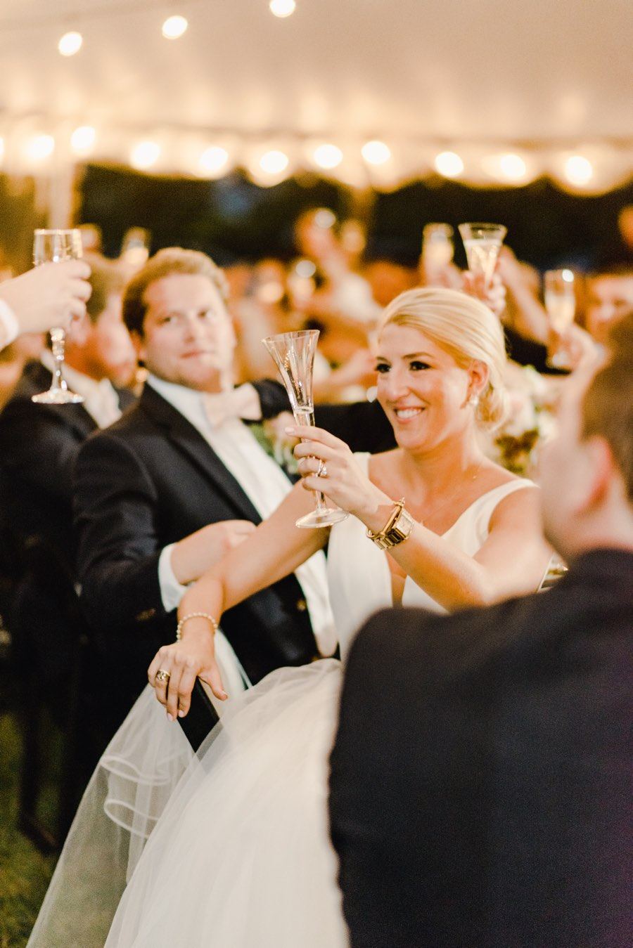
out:
<path id="1" fill-rule="evenodd" d="M 605 439 L 633 501 L 633 310 L 611 327 L 607 350 L 586 390 L 583 437 Z"/>

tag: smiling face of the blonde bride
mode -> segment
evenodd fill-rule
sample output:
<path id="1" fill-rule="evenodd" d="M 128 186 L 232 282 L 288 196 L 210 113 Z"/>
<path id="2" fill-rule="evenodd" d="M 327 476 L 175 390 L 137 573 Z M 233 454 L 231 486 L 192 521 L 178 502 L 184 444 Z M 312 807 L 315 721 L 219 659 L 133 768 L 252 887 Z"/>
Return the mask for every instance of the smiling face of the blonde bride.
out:
<path id="1" fill-rule="evenodd" d="M 476 364 L 453 356 L 413 326 L 390 323 L 377 356 L 378 400 L 400 447 L 424 451 L 473 423 L 470 394 L 479 389 Z"/>

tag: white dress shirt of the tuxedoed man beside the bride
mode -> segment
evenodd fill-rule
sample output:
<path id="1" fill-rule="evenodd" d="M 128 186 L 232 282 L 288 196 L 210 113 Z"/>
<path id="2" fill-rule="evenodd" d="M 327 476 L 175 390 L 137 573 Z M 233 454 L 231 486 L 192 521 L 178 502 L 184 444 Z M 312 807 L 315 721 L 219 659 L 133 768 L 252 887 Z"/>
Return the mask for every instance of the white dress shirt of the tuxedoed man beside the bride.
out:
<path id="1" fill-rule="evenodd" d="M 238 418 L 226 418 L 212 426 L 206 410 L 206 395 L 182 385 L 166 382 L 150 374 L 147 385 L 158 392 L 201 434 L 220 461 L 240 484 L 253 507 L 266 520 L 289 494 L 292 484 L 279 465 L 257 442 L 251 430 Z M 158 559 L 158 582 L 162 604 L 176 609 L 186 587 L 178 583 L 171 564 L 174 544 L 166 546 Z M 322 655 L 331 655 L 337 638 L 327 594 L 326 557 L 319 552 L 295 570 L 307 602 L 314 637 Z"/>

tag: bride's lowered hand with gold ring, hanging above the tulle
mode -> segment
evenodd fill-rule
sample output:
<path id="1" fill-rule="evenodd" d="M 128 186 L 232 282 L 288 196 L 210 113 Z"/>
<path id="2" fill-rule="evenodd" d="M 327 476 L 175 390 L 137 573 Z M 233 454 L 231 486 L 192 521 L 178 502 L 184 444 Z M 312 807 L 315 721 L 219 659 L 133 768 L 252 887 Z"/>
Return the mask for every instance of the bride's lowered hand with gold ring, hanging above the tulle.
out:
<path id="1" fill-rule="evenodd" d="M 158 671 L 166 675 L 157 680 Z M 147 678 L 157 700 L 167 709 L 169 720 L 184 718 L 189 711 L 196 678 L 206 682 L 221 702 L 229 697 L 215 661 L 214 636 L 208 631 L 203 634 L 190 631 L 181 642 L 158 648 Z"/>

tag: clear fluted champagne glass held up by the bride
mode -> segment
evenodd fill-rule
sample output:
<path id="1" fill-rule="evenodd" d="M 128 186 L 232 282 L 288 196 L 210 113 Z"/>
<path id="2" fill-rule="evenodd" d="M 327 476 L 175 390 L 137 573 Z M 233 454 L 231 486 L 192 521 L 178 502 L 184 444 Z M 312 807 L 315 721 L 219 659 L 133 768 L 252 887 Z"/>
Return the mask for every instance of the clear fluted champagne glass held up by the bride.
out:
<path id="1" fill-rule="evenodd" d="M 297 425 L 314 425 L 312 368 L 318 338 L 318 329 L 306 329 L 262 339 L 286 386 Z M 298 527 L 328 527 L 349 516 L 339 507 L 328 507 L 321 491 L 314 497 L 315 509 L 296 521 Z"/>

